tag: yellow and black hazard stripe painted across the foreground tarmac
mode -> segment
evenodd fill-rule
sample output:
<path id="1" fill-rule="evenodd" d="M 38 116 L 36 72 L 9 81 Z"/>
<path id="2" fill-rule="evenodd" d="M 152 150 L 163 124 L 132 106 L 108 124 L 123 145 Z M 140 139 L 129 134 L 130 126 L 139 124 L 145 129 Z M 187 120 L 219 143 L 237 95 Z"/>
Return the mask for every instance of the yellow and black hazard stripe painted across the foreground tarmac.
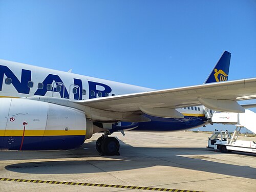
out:
<path id="1" fill-rule="evenodd" d="M 108 185 L 108 184 L 96 184 L 96 183 L 77 183 L 77 182 L 62 182 L 62 181 L 44 181 L 33 179 L 10 179 L 0 178 L 0 181 L 14 181 L 25 183 L 47 183 L 47 184 L 59 184 L 59 185 L 80 185 L 80 186 L 92 186 L 92 187 L 112 187 L 112 188 L 125 188 L 125 189 L 140 189 L 140 190 L 158 190 L 158 191 L 173 191 L 173 192 L 202 192 L 197 190 L 181 190 L 170 188 L 157 188 L 157 187 L 139 187 L 139 186 L 126 186 L 126 185 Z"/>

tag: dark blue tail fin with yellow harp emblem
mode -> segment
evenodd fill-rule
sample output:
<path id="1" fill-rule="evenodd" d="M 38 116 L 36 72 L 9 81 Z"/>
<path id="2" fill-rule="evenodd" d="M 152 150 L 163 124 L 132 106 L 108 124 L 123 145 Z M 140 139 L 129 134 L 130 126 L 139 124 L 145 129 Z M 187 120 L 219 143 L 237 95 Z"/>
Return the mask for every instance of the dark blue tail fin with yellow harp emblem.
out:
<path id="1" fill-rule="evenodd" d="M 204 83 L 227 81 L 231 53 L 224 51 Z"/>

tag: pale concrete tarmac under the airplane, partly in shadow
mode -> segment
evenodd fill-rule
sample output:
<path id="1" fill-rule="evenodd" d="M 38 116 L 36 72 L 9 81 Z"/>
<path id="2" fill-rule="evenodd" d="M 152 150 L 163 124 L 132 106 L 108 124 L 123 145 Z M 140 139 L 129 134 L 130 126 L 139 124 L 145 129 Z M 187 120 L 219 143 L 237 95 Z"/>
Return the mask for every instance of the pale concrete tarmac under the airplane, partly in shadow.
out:
<path id="1" fill-rule="evenodd" d="M 125 134 L 113 134 L 120 140 L 120 156 L 99 156 L 95 141 L 100 133 L 75 150 L 0 152 L 0 177 L 215 192 L 256 189 L 256 156 L 209 150 L 210 134 Z M 0 181 L 0 191 L 146 190 Z"/>

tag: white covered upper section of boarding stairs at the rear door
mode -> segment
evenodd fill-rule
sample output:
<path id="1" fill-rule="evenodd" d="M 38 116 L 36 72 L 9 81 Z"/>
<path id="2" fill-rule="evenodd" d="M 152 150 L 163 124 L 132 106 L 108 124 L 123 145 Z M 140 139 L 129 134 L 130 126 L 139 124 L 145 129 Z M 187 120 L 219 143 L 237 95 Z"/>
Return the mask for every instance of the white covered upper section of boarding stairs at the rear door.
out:
<path id="1" fill-rule="evenodd" d="M 256 134 L 256 113 L 245 110 L 245 113 L 229 113 L 229 112 L 215 112 L 212 114 L 211 122 L 222 123 L 222 124 L 234 124 L 240 127 L 239 130 L 236 129 L 234 136 L 237 138 L 241 130 L 241 127 L 245 127 L 254 134 Z M 236 132 L 238 132 L 236 134 Z M 237 135 L 237 136 L 236 136 Z"/>

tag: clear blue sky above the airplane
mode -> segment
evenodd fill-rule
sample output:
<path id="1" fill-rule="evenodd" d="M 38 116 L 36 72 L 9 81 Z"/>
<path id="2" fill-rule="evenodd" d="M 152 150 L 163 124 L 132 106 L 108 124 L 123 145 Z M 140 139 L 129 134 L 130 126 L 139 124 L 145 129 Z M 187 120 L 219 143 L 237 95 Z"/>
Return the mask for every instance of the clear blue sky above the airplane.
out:
<path id="1" fill-rule="evenodd" d="M 154 89 L 201 84 L 224 50 L 256 77 L 256 1 L 0 0 L 0 58 Z"/>

